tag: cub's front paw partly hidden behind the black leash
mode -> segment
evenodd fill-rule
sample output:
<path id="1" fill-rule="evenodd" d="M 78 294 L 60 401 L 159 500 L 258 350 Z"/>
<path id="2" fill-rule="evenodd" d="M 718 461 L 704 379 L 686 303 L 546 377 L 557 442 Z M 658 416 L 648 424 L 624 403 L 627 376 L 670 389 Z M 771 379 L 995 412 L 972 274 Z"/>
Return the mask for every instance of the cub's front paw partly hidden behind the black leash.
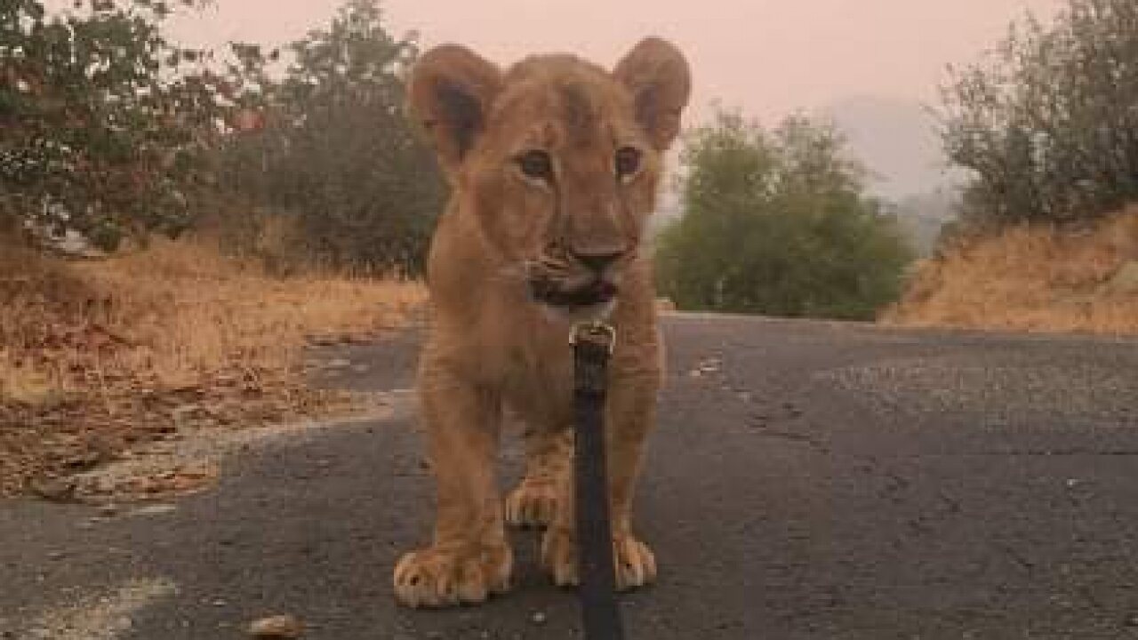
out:
<path id="1" fill-rule="evenodd" d="M 655 582 L 655 556 L 648 544 L 632 535 L 617 536 L 612 541 L 612 556 L 618 591 Z M 550 572 L 558 586 L 576 586 L 580 583 L 577 574 L 577 542 L 570 532 L 560 528 L 545 532 L 542 566 Z"/>

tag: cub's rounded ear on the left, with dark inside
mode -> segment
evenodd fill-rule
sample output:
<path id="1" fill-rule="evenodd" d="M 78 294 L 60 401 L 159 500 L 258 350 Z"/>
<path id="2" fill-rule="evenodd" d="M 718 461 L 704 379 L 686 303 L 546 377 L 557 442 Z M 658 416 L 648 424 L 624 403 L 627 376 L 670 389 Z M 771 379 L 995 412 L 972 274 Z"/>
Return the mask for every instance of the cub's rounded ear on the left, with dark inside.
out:
<path id="1" fill-rule="evenodd" d="M 435 141 L 447 173 L 457 171 L 502 85 L 496 66 L 470 49 L 444 44 L 415 64 L 407 90 L 411 115 Z"/>

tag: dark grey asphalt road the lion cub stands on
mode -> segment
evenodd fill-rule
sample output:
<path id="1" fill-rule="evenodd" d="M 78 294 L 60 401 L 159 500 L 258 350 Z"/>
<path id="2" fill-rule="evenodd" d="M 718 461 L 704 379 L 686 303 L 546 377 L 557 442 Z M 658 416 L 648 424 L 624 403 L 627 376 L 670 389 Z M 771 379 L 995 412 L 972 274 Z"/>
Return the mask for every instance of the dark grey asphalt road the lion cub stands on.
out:
<path id="1" fill-rule="evenodd" d="M 696 317 L 666 331 L 638 501 L 661 576 L 622 599 L 632 640 L 1138 638 L 1138 342 Z M 405 388 L 413 346 L 333 354 L 369 371 L 328 381 Z M 391 565 L 430 518 L 411 426 L 401 411 L 282 438 L 167 512 L 0 503 L 0 638 L 72 638 L 58 630 L 93 616 L 86 640 L 237 639 L 277 612 L 311 639 L 579 638 L 529 533 L 511 594 L 395 607 Z"/>

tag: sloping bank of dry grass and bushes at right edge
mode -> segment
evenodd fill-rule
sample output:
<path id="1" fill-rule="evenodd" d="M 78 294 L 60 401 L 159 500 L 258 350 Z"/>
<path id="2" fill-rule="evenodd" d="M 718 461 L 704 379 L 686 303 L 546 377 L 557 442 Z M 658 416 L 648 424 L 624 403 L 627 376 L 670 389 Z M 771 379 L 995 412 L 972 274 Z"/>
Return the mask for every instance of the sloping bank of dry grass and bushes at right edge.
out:
<path id="1" fill-rule="evenodd" d="M 902 325 L 1138 334 L 1138 5 L 1070 0 L 945 89 L 959 221 Z"/>

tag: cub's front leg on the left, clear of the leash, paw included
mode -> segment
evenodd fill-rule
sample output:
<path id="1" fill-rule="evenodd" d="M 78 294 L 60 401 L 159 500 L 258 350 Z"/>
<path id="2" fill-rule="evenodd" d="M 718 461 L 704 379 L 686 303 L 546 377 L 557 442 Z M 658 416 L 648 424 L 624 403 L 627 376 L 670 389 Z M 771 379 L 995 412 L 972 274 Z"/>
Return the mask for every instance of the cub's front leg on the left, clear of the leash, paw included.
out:
<path id="1" fill-rule="evenodd" d="M 409 607 L 481 602 L 509 589 L 513 561 L 494 477 L 501 403 L 438 375 L 421 378 L 420 396 L 437 483 L 435 540 L 396 565 L 395 596 Z"/>

